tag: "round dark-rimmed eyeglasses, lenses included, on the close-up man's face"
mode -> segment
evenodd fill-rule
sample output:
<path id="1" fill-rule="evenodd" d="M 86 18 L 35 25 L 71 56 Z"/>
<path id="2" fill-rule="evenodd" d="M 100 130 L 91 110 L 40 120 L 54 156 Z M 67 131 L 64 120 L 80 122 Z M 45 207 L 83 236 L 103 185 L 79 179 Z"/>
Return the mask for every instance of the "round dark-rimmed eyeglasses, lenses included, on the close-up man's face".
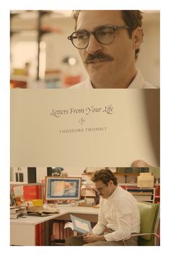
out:
<path id="1" fill-rule="evenodd" d="M 73 46 L 78 49 L 85 49 L 89 46 L 89 38 L 90 35 L 94 35 L 94 38 L 98 43 L 109 45 L 115 39 L 116 30 L 130 30 L 130 27 L 127 26 L 112 26 L 106 25 L 102 27 L 97 27 L 93 32 L 89 32 L 86 30 L 77 30 L 73 32 L 70 36 L 68 36 L 68 40 L 71 40 Z"/>

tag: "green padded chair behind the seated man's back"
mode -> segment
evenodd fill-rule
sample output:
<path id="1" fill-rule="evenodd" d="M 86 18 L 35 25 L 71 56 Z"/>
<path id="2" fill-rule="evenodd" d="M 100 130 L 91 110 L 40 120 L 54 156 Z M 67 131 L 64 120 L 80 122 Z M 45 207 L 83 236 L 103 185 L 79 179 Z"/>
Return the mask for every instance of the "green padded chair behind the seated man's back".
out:
<path id="1" fill-rule="evenodd" d="M 159 219 L 159 204 L 151 202 L 138 202 L 140 210 L 140 234 L 155 233 Z M 139 245 L 153 245 L 152 235 L 139 236 Z"/>

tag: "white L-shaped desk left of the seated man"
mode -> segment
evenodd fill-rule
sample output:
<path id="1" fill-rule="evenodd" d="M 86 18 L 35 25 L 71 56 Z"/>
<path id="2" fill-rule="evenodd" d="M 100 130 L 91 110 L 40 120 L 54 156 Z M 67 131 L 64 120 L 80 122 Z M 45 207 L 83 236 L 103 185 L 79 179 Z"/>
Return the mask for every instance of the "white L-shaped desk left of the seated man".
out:
<path id="1" fill-rule="evenodd" d="M 10 220 L 10 244 L 13 245 L 35 245 L 35 226 L 53 219 L 70 220 L 69 215 L 74 214 L 80 218 L 97 221 L 98 208 L 79 206 L 59 206 L 60 213 L 51 216 L 27 216 Z"/>

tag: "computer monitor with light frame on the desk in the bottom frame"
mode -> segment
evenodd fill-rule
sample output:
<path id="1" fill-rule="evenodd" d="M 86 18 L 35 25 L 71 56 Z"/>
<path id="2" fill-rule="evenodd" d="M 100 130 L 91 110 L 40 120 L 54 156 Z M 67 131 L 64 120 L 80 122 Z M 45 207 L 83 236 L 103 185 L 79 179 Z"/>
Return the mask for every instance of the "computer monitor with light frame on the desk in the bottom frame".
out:
<path id="1" fill-rule="evenodd" d="M 46 200 L 79 200 L 81 197 L 81 177 L 45 177 Z"/>

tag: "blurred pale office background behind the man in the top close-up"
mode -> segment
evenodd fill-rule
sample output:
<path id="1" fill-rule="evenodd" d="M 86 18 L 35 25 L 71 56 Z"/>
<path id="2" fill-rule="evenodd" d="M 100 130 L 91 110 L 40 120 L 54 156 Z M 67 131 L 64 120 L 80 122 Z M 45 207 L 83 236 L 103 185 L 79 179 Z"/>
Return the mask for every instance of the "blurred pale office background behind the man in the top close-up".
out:
<path id="1" fill-rule="evenodd" d="M 159 88 L 160 14 L 143 11 L 144 42 L 136 66 Z M 11 11 L 11 88 L 68 88 L 86 80 L 76 48 L 71 11 Z"/>

